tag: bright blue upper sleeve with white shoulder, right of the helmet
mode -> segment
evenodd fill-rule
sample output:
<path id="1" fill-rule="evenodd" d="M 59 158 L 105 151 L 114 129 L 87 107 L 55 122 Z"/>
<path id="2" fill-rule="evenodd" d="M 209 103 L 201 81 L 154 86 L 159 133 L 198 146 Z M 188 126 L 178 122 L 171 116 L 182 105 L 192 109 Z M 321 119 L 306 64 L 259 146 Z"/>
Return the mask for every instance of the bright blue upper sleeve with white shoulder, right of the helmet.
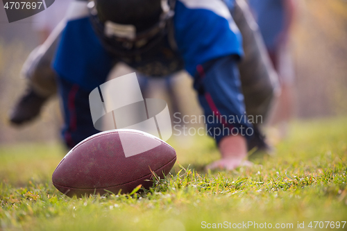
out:
<path id="1" fill-rule="evenodd" d="M 178 51 L 185 69 L 228 55 L 243 55 L 242 35 L 221 0 L 178 0 L 174 17 Z"/>

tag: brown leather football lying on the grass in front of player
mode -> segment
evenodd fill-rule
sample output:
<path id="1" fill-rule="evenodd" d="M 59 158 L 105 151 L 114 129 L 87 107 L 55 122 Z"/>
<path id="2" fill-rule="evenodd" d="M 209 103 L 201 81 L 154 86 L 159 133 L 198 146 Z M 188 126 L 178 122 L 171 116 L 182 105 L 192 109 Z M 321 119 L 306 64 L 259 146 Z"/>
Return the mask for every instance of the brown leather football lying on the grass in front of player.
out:
<path id="1" fill-rule="evenodd" d="M 109 130 L 88 137 L 65 155 L 53 172 L 53 185 L 67 196 L 130 193 L 149 189 L 153 173 L 163 178 L 176 162 L 176 151 L 139 130 Z"/>

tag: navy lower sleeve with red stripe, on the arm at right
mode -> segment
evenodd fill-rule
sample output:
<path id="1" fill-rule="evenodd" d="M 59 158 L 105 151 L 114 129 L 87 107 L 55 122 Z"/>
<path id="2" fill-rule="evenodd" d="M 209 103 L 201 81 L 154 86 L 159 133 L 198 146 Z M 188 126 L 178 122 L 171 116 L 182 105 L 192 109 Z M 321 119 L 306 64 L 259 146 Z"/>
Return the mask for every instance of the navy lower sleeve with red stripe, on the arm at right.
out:
<path id="1" fill-rule="evenodd" d="M 217 58 L 198 65 L 194 89 L 205 114 L 206 131 L 217 144 L 229 135 L 242 135 L 247 139 L 253 135 L 235 57 Z"/>

